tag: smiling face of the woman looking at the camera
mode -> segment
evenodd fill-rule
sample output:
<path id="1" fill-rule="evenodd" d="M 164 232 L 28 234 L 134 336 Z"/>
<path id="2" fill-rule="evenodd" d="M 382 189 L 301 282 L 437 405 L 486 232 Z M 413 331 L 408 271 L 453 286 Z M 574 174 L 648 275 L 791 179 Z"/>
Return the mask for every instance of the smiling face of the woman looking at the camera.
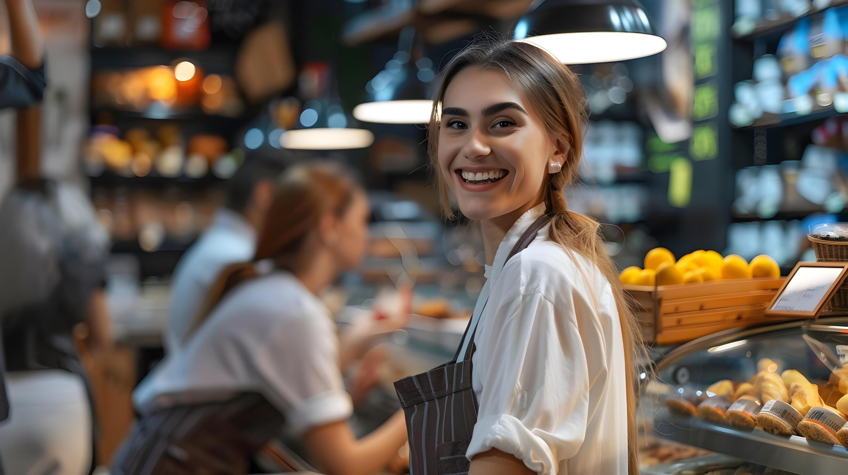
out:
<path id="1" fill-rule="evenodd" d="M 471 67 L 442 101 L 438 167 L 472 220 L 506 215 L 539 198 L 556 148 L 500 70 Z"/>

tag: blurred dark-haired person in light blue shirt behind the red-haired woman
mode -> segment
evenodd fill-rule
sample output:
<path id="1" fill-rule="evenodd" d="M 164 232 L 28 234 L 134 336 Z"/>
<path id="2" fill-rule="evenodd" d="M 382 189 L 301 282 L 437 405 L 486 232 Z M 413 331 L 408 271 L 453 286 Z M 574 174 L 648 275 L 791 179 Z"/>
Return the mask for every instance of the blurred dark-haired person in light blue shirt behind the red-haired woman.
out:
<path id="1" fill-rule="evenodd" d="M 212 226 L 183 254 L 171 285 L 170 316 L 163 344 L 176 351 L 185 342 L 215 277 L 227 265 L 254 257 L 256 235 L 271 199 L 282 164 L 250 156 L 226 181 L 226 203 L 215 212 Z"/>

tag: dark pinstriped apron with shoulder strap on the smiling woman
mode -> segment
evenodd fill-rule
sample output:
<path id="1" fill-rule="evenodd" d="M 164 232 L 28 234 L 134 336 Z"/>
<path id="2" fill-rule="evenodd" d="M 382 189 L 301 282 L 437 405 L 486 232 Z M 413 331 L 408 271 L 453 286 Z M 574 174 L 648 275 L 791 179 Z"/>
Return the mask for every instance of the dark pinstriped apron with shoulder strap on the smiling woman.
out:
<path id="1" fill-rule="evenodd" d="M 536 234 L 550 221 L 542 215 L 527 228 L 512 248 L 506 262 L 533 242 Z M 504 264 L 506 265 L 506 263 Z M 483 318 L 485 304 L 480 312 Z M 467 473 L 471 461 L 466 450 L 477 423 L 477 396 L 471 388 L 471 357 L 477 350 L 471 331 L 466 354 L 459 360 L 460 348 L 453 360 L 428 372 L 408 376 L 394 382 L 406 416 L 410 444 L 410 475 L 448 475 Z M 471 321 L 468 322 L 471 327 Z M 465 341 L 468 333 L 462 335 Z"/>

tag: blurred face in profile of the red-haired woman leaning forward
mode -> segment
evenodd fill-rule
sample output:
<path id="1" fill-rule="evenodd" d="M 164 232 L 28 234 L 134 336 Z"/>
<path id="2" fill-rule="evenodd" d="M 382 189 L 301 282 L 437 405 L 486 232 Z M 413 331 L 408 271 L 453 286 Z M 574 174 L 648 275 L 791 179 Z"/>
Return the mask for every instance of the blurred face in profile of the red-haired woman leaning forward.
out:
<path id="1" fill-rule="evenodd" d="M 338 219 L 335 237 L 330 241 L 340 270 L 360 265 L 368 245 L 368 198 L 361 190 L 354 192 L 347 210 Z"/>

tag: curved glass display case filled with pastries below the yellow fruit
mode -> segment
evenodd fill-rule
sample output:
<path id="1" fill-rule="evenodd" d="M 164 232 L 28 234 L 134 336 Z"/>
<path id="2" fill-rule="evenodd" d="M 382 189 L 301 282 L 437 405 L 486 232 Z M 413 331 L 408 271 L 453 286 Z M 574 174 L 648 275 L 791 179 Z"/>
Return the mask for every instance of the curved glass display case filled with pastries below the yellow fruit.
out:
<path id="1" fill-rule="evenodd" d="M 644 447 L 666 444 L 666 449 L 660 450 L 660 456 L 655 456 L 656 449 L 650 456 L 642 456 L 644 473 L 848 473 L 848 450 L 841 444 L 807 439 L 798 432 L 800 424 L 787 428 L 786 435 L 775 435 L 764 431 L 759 423 L 759 415 L 771 409 L 765 399 L 775 399 L 762 386 L 763 379 L 768 378 L 784 382 L 786 395 L 777 399 L 785 397 L 790 410 L 800 411 L 798 421 L 810 421 L 817 414 L 813 411 L 820 411 L 815 406 L 842 415 L 837 406 L 845 409 L 848 403 L 845 398 L 838 404 L 848 389 L 848 371 L 843 369 L 848 368 L 848 316 L 734 328 L 683 344 L 655 361 L 653 377 L 643 374 L 640 415 L 644 433 L 640 435 L 647 441 Z M 787 370 L 796 370 L 806 381 Z M 724 380 L 729 382 L 722 383 Z M 810 388 L 808 400 L 801 395 L 802 386 Z M 744 393 L 750 397 L 740 398 Z M 704 404 L 705 400 L 715 402 L 722 397 L 725 404 L 707 411 L 711 416 L 696 410 L 711 404 Z M 757 400 L 756 409 L 748 414 L 750 427 L 728 422 L 728 413 L 734 409 L 728 409 L 727 404 L 738 398 Z M 676 401 L 688 405 L 688 409 Z M 837 421 L 834 424 L 844 422 Z M 837 431 L 829 433 L 834 441 L 839 439 Z M 672 463 L 657 463 L 669 462 L 662 458 L 668 459 L 671 451 L 686 454 L 687 448 L 695 458 L 687 461 L 672 457 Z M 712 454 L 705 455 L 701 450 Z M 734 471 L 743 464 L 748 465 Z"/>

